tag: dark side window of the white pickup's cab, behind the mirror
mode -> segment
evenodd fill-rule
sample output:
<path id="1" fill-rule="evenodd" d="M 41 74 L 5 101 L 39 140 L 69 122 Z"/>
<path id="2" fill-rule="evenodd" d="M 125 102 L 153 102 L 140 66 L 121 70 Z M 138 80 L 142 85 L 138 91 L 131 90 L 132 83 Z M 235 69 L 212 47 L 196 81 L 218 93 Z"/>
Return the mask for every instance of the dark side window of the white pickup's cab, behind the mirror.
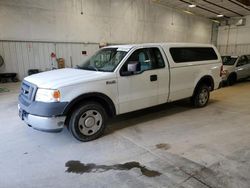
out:
<path id="1" fill-rule="evenodd" d="M 133 52 L 123 65 L 121 72 L 126 72 L 128 63 L 138 63 L 139 73 L 165 67 L 163 57 L 158 48 L 143 48 Z"/>

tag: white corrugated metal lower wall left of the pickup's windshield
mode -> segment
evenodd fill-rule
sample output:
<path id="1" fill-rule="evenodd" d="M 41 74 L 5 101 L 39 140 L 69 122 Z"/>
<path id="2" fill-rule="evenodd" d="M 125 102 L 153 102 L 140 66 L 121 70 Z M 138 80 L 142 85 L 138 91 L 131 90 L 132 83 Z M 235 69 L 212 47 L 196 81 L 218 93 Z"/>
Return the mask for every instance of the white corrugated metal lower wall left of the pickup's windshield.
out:
<path id="1" fill-rule="evenodd" d="M 23 79 L 29 69 L 50 70 L 52 52 L 65 59 L 66 67 L 71 67 L 70 59 L 76 66 L 98 49 L 98 44 L 0 41 L 0 55 L 5 61 L 0 73 L 15 72 Z M 87 51 L 87 55 L 82 55 L 82 51 Z"/>

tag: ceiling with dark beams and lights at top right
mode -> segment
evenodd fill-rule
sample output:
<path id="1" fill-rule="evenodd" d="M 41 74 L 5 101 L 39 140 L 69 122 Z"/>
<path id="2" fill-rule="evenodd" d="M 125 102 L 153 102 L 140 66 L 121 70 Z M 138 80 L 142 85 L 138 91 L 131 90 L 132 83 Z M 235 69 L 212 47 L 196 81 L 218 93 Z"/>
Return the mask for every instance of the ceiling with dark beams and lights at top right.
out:
<path id="1" fill-rule="evenodd" d="M 250 15 L 250 0 L 153 0 L 155 3 L 181 9 L 211 19 L 227 19 Z M 190 8 L 188 5 L 196 7 Z M 224 15 L 218 18 L 217 15 Z"/>

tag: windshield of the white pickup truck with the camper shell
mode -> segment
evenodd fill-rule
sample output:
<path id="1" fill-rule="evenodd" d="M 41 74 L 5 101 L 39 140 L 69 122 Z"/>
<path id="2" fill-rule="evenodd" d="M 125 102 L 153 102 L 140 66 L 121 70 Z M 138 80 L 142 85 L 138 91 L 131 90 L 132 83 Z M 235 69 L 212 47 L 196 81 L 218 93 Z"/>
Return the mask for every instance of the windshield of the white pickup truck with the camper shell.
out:
<path id="1" fill-rule="evenodd" d="M 82 65 L 78 66 L 78 68 L 84 70 L 113 72 L 127 53 L 127 51 L 118 48 L 104 48 L 99 50 Z"/>

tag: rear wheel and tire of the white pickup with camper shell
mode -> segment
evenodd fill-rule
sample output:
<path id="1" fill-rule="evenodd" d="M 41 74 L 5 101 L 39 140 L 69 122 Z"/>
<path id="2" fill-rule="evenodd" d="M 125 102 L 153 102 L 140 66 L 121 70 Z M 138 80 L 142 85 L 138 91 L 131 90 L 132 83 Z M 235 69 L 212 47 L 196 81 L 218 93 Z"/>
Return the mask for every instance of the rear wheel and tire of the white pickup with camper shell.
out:
<path id="1" fill-rule="evenodd" d="M 209 101 L 210 90 L 207 85 L 199 85 L 191 98 L 191 102 L 194 107 L 205 107 Z"/>

